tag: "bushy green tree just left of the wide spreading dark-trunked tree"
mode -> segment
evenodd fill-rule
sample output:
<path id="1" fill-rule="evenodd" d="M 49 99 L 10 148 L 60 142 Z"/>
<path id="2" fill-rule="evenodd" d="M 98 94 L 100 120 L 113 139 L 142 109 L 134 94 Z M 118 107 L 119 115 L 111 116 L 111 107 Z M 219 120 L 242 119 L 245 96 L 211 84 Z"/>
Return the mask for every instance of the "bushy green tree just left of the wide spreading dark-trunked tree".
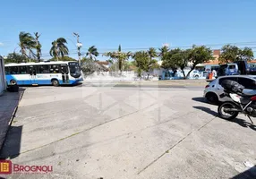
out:
<path id="1" fill-rule="evenodd" d="M 157 60 L 151 60 L 148 52 L 145 51 L 139 51 L 136 52 L 133 55 L 134 58 L 134 64 L 138 67 L 138 73 L 141 77 L 141 72 L 147 72 L 149 80 L 149 72 L 153 69 L 159 68 L 158 61 Z"/>

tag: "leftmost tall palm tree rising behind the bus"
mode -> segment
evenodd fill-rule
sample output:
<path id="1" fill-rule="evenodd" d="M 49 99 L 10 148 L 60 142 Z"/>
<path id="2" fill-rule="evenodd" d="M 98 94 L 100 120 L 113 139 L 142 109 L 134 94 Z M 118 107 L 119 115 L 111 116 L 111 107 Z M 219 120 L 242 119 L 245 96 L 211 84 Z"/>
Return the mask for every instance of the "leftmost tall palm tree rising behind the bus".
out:
<path id="1" fill-rule="evenodd" d="M 21 54 L 30 58 L 29 55 L 27 55 L 27 51 L 29 51 L 30 55 L 32 54 L 35 56 L 34 52 L 32 51 L 33 48 L 36 47 L 36 41 L 35 38 L 31 36 L 30 33 L 21 31 L 20 35 L 20 43 L 19 46 L 21 47 Z"/>

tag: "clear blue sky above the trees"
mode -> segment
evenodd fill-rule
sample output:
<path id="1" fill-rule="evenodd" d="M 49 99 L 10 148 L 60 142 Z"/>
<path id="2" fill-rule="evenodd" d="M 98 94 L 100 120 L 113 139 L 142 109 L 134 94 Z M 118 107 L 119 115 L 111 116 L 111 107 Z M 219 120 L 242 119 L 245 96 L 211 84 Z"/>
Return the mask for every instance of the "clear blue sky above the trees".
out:
<path id="1" fill-rule="evenodd" d="M 256 47 L 255 7 L 252 0 L 3 1 L 0 55 L 20 51 L 21 31 L 41 34 L 46 59 L 51 42 L 60 37 L 67 39 L 71 56 L 77 58 L 73 32 L 80 34 L 82 53 L 90 46 L 98 47 L 99 53 L 117 50 L 119 44 L 124 51 L 165 43 L 183 47 L 254 42 L 237 46 Z"/>

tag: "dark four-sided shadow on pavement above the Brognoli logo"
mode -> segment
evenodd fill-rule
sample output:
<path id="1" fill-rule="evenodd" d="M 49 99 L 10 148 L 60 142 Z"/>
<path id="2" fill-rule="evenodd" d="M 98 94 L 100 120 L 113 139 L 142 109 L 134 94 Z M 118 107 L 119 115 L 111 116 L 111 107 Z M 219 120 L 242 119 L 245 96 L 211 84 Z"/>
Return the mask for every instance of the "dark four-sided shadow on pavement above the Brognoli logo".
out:
<path id="1" fill-rule="evenodd" d="M 17 158 L 21 150 L 22 126 L 11 126 L 0 150 L 0 159 Z"/>

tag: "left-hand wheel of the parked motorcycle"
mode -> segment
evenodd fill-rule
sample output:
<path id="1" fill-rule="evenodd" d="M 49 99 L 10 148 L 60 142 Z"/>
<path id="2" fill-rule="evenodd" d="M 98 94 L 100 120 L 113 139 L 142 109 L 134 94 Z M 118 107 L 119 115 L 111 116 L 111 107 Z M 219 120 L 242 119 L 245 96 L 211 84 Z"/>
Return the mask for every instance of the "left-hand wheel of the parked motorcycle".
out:
<path id="1" fill-rule="evenodd" d="M 224 111 L 225 108 L 236 108 L 236 105 L 234 103 L 225 102 L 225 103 L 221 104 L 220 106 L 218 106 L 218 115 L 223 119 L 233 120 L 239 114 L 239 112 L 236 112 L 236 111 L 226 113 Z"/>

